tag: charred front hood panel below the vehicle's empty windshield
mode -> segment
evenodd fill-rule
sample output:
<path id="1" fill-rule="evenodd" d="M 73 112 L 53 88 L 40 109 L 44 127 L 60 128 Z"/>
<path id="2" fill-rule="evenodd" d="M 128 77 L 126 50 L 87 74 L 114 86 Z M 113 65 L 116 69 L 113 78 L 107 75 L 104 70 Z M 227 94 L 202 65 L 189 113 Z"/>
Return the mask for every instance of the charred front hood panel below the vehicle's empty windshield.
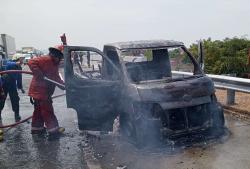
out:
<path id="1" fill-rule="evenodd" d="M 210 96 L 215 92 L 214 84 L 207 76 L 170 82 L 149 81 L 137 84 L 136 87 L 142 102 L 182 103 L 186 106 L 210 102 Z"/>

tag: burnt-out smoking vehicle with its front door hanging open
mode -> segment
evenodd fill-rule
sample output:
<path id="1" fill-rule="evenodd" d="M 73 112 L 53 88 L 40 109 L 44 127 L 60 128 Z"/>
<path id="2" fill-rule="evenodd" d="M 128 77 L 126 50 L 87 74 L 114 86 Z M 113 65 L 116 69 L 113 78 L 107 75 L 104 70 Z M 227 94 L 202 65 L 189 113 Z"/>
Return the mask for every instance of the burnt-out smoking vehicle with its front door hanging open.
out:
<path id="1" fill-rule="evenodd" d="M 80 130 L 111 131 L 117 118 L 121 132 L 142 143 L 224 127 L 212 80 L 181 42 L 111 43 L 103 52 L 65 46 L 64 63 L 67 106 Z"/>

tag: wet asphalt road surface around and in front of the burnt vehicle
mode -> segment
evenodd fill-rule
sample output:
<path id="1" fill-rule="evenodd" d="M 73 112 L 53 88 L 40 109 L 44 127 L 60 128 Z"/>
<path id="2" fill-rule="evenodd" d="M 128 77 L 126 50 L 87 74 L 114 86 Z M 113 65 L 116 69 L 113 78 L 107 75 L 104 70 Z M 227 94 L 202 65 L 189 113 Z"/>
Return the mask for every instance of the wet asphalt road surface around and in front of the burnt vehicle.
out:
<path id="1" fill-rule="evenodd" d="M 27 87 L 29 76 L 24 76 Z M 56 90 L 57 94 L 63 93 Z M 22 118 L 32 114 L 27 94 L 20 94 Z M 54 100 L 59 124 L 65 135 L 49 141 L 32 137 L 30 124 L 5 130 L 0 142 L 0 169 L 248 169 L 250 168 L 250 122 L 226 116 L 228 131 L 220 139 L 202 140 L 192 146 L 174 144 L 138 149 L 114 134 L 89 135 L 77 129 L 74 110 L 66 108 L 65 97 Z M 9 100 L 3 122 L 14 121 Z"/>

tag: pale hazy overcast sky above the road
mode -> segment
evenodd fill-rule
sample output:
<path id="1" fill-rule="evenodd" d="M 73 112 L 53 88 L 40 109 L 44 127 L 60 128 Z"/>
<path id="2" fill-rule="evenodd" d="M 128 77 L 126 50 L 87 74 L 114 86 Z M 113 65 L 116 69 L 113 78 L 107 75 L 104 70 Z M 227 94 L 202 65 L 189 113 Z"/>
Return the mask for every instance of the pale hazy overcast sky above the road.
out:
<path id="1" fill-rule="evenodd" d="M 18 49 L 167 39 L 187 46 L 250 36 L 249 0 L 0 0 L 0 33 Z"/>

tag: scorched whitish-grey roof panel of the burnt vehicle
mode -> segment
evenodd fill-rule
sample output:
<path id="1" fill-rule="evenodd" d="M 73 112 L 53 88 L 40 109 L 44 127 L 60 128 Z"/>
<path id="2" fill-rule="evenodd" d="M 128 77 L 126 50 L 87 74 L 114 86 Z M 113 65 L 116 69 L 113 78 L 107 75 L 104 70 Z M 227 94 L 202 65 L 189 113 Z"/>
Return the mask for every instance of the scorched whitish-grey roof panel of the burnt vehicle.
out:
<path id="1" fill-rule="evenodd" d="M 140 40 L 140 41 L 128 41 L 128 42 L 116 42 L 109 43 L 105 46 L 115 47 L 120 50 L 124 49 L 145 49 L 145 48 L 162 48 L 162 47 L 174 47 L 184 46 L 182 42 L 173 40 Z"/>

